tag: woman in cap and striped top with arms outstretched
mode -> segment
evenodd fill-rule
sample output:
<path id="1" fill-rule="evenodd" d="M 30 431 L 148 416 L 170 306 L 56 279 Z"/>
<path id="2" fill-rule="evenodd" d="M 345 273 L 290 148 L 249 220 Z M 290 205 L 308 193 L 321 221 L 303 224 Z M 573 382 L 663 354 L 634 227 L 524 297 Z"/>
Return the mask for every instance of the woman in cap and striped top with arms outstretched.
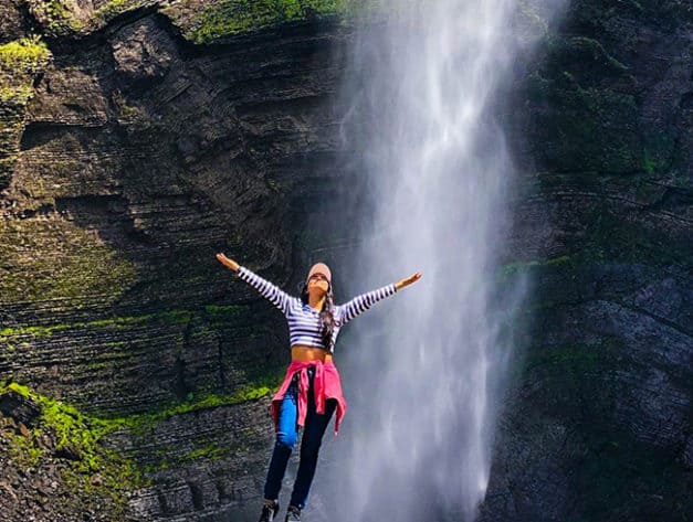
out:
<path id="1" fill-rule="evenodd" d="M 335 412 L 337 413 L 335 433 L 339 429 L 339 423 L 346 413 L 339 373 L 333 363 L 339 329 L 376 301 L 419 280 L 421 274 L 416 273 L 398 283 L 363 294 L 345 305 L 335 306 L 332 274 L 324 263 L 313 265 L 301 298 L 296 298 L 223 254 L 217 254 L 217 259 L 282 310 L 288 321 L 291 364 L 284 382 L 272 398 L 276 443 L 267 470 L 265 501 L 260 522 L 271 522 L 280 510 L 277 501 L 280 489 L 301 426 L 303 427 L 301 462 L 284 519 L 285 522 L 300 521 L 301 510 L 306 505 L 308 490 L 315 476 L 323 434 Z"/>

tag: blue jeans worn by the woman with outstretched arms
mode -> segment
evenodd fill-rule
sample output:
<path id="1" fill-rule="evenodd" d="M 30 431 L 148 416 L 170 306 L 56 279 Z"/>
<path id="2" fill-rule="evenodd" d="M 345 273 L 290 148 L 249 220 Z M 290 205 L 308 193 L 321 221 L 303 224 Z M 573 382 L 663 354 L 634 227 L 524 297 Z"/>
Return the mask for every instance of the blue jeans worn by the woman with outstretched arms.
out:
<path id="1" fill-rule="evenodd" d="M 323 441 L 323 435 L 337 406 L 336 401 L 328 400 L 325 402 L 324 414 L 315 412 L 315 395 L 313 393 L 315 370 L 309 367 L 307 372 L 311 383 L 308 387 L 308 411 L 306 412 L 303 439 L 301 440 L 301 462 L 298 464 L 294 490 L 291 494 L 291 505 L 295 505 L 298 509 L 304 509 L 307 504 L 308 491 L 315 476 L 317 455 Z M 298 418 L 297 394 L 298 375 L 296 374 L 286 391 L 286 395 L 284 395 L 280 409 L 276 443 L 274 444 L 267 480 L 264 486 L 264 498 L 269 500 L 279 499 L 288 458 L 298 439 L 298 426 L 296 425 Z"/>

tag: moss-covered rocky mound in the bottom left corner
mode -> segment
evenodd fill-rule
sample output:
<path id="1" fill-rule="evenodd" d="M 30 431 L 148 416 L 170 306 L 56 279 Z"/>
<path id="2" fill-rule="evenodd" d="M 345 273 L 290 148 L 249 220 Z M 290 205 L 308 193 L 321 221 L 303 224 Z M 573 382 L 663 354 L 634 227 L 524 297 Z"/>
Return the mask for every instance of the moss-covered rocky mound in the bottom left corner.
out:
<path id="1" fill-rule="evenodd" d="M 0 407 L 0 439 L 7 444 L 0 454 L 7 450 L 10 459 L 3 472 L 11 473 L 19 466 L 29 471 L 39 491 L 54 490 L 46 511 L 59 519 L 82 510 L 97 513 L 98 520 L 130 520 L 126 493 L 143 483 L 141 473 L 130 459 L 103 444 L 120 424 L 86 416 L 18 383 L 0 383 L 0 404 L 12 394 L 36 408 L 39 416 L 30 427 L 20 422 L 18 433 L 11 429 L 18 422 L 12 420 L 13 409 Z M 35 494 L 27 489 L 13 492 L 21 497 L 18 507 L 31 499 L 27 496 Z"/>

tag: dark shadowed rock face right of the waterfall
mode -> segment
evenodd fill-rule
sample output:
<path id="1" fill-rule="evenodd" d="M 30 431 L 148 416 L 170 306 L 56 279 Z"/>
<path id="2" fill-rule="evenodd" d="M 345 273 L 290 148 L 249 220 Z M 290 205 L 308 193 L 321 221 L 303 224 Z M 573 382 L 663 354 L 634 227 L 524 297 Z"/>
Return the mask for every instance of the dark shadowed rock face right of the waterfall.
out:
<path id="1" fill-rule="evenodd" d="M 602 3 L 570 2 L 515 98 L 506 274 L 534 288 L 485 521 L 693 510 L 693 10 Z"/>

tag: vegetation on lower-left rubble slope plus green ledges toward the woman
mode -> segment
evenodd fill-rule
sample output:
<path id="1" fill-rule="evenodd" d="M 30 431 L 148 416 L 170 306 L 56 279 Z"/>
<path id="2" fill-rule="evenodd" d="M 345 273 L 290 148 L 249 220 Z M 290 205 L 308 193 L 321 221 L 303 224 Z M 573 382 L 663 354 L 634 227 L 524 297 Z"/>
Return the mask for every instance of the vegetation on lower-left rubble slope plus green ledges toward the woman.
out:
<path id="1" fill-rule="evenodd" d="M 150 483 L 150 472 L 201 459 L 234 458 L 243 448 L 202 438 L 182 454 L 180 448 L 171 446 L 149 455 L 137 449 L 116 449 L 117 444 L 112 437 L 146 439 L 172 417 L 264 397 L 279 380 L 276 371 L 265 372 L 254 375 L 251 382 L 231 394 L 196 396 L 190 393 L 183 401 L 151 413 L 115 418 L 85 414 L 11 379 L 1 381 L 0 457 L 6 462 L 3 471 L 10 482 L 15 472 L 28 476 L 30 482 L 25 486 L 0 482 L 0 486 L 22 502 L 28 500 L 27 493 L 33 497 L 36 491 L 40 496 L 55 494 L 40 514 L 42 520 L 46 513 L 61 519 L 81 513 L 92 515 L 94 520 L 133 520 L 136 516 L 128 498 L 134 490 Z M 30 491 L 23 491 L 24 487 Z"/>

